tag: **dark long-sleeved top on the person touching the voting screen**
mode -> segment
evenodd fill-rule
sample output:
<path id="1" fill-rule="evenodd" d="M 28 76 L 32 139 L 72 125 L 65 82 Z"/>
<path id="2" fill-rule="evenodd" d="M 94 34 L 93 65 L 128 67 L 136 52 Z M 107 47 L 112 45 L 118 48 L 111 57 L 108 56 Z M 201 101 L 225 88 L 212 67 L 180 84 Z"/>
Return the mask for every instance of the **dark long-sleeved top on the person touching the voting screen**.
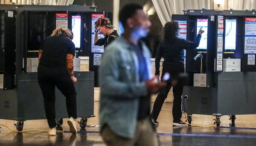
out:
<path id="1" fill-rule="evenodd" d="M 164 58 L 163 67 L 165 66 L 183 66 L 184 67 L 184 49 L 192 49 L 198 47 L 201 39 L 201 34 L 198 34 L 195 42 L 190 42 L 185 39 L 177 38 L 176 41 L 167 42 L 161 41 L 157 48 L 157 55 L 155 58 L 155 75 L 160 74 L 160 60 Z"/>

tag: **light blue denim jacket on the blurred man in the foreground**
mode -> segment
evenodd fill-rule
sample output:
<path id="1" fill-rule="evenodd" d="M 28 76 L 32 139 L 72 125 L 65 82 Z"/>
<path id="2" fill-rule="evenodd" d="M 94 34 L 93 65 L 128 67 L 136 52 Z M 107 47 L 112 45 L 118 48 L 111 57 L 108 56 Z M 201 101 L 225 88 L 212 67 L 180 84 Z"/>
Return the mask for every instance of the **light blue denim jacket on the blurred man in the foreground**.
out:
<path id="1" fill-rule="evenodd" d="M 150 52 L 142 42 L 149 79 L 152 78 Z M 138 58 L 123 37 L 111 43 L 99 67 L 100 125 L 124 138 L 133 138 L 136 130 L 139 97 L 147 95 L 145 81 L 140 82 Z"/>

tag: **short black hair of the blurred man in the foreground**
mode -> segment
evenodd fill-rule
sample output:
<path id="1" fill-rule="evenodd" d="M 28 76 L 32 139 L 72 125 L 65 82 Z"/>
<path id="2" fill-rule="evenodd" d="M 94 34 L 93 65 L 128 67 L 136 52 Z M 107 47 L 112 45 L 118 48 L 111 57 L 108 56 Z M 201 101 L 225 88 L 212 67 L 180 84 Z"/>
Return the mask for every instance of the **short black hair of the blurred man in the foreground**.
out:
<path id="1" fill-rule="evenodd" d="M 119 21 L 123 27 L 126 26 L 126 20 L 137 14 L 137 10 L 143 9 L 143 6 L 137 3 L 130 3 L 122 7 L 119 13 Z"/>

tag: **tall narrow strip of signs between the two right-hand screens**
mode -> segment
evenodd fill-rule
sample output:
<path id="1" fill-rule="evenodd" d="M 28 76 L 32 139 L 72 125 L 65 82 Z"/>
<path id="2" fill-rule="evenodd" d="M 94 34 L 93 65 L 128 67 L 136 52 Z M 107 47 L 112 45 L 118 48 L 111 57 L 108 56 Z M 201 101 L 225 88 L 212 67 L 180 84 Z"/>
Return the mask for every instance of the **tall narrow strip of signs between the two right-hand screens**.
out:
<path id="1" fill-rule="evenodd" d="M 223 16 L 218 16 L 217 59 L 216 70 L 222 71 L 223 66 Z"/>

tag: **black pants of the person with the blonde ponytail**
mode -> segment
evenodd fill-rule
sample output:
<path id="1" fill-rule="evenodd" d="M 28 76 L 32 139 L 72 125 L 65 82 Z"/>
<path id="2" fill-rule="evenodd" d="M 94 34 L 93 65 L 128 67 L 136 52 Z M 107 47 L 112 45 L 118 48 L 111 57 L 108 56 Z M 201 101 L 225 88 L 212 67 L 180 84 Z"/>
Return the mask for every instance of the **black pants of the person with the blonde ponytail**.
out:
<path id="1" fill-rule="evenodd" d="M 76 115 L 76 90 L 66 67 L 38 66 L 38 83 L 44 96 L 44 110 L 50 128 L 55 123 L 55 86 L 66 97 L 69 118 Z"/>

